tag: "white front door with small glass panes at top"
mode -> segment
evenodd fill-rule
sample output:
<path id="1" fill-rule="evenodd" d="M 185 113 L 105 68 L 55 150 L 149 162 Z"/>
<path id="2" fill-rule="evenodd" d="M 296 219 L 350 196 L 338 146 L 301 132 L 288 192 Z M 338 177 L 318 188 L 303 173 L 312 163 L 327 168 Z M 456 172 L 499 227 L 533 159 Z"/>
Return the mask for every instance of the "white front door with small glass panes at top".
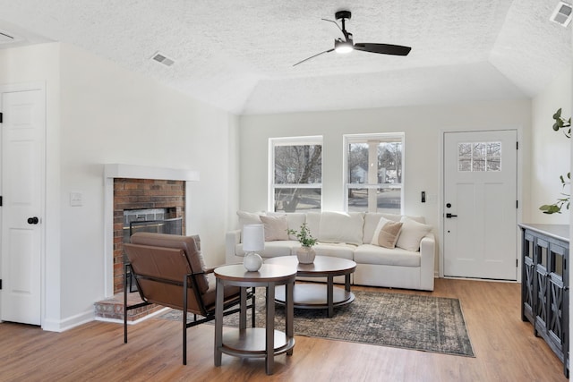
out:
<path id="1" fill-rule="evenodd" d="M 444 133 L 444 276 L 517 280 L 517 132 Z"/>

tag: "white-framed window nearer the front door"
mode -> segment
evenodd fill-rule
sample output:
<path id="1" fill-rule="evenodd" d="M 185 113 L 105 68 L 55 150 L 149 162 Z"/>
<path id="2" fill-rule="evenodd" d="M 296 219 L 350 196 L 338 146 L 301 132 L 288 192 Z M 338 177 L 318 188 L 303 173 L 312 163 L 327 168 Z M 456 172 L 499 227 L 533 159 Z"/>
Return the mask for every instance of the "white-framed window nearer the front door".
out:
<path id="1" fill-rule="evenodd" d="M 348 212 L 402 213 L 404 133 L 345 135 Z"/>

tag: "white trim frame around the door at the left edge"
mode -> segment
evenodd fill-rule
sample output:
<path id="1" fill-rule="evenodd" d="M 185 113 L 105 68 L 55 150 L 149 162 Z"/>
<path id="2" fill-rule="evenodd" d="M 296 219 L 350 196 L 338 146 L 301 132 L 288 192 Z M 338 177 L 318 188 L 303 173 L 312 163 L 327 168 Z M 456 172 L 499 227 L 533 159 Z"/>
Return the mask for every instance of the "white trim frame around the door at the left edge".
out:
<path id="1" fill-rule="evenodd" d="M 44 324 L 46 322 L 46 196 L 47 196 L 47 92 L 46 92 L 46 83 L 42 81 L 27 81 L 21 83 L 8 83 L 2 84 L 0 83 L 0 98 L 4 93 L 13 93 L 18 91 L 31 91 L 31 90 L 39 90 L 41 98 L 42 98 L 42 112 L 44 115 L 44 136 L 42 137 L 44 142 L 42 145 L 43 153 L 42 157 L 44 160 L 43 165 L 41 166 L 42 174 L 40 179 L 40 184 L 42 184 L 42 191 L 40 192 L 40 211 L 39 215 L 42 219 L 42 224 L 39 226 L 40 231 L 40 270 L 39 270 L 39 288 L 40 288 L 40 327 L 44 328 Z M 0 102 L 0 107 L 2 106 Z M 3 109 L 0 108 L 0 111 Z M 0 130 L 0 148 L 2 147 L 2 138 L 3 134 Z M 2 157 L 0 157 L 0 193 L 2 192 Z M 3 209 L 0 208 L 0 260 L 2 259 L 2 230 L 4 227 L 2 226 L 3 221 Z M 1 261 L 0 261 L 1 263 Z M 1 269 L 0 269 L 1 271 Z M 0 276 L 2 273 L 0 272 Z M 2 321 L 0 321 L 2 322 Z"/>

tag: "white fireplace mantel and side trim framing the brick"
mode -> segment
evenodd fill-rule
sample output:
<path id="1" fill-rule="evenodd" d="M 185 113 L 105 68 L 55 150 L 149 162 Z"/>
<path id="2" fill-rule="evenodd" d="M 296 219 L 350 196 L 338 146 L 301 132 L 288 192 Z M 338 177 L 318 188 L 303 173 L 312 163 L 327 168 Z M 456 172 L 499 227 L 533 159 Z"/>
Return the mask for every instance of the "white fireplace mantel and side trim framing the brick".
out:
<path id="1" fill-rule="evenodd" d="M 177 168 L 107 164 L 104 165 L 104 259 L 105 296 L 114 295 L 114 179 L 157 179 L 163 181 L 199 182 L 199 172 Z M 185 186 L 185 226 L 191 226 L 191 187 Z"/>

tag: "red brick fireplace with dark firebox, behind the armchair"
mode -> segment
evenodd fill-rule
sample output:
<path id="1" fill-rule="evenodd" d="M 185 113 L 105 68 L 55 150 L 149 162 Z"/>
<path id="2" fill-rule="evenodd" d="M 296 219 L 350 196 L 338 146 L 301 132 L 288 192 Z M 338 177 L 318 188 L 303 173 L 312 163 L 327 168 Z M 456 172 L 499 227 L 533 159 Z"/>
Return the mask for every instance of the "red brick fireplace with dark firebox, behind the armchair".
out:
<path id="1" fill-rule="evenodd" d="M 135 211 L 134 214 L 126 212 Z M 159 212 L 158 212 L 159 211 Z M 165 211 L 165 212 L 162 212 Z M 146 216 L 145 215 L 150 215 Z M 162 220 L 185 215 L 185 182 L 159 179 L 114 179 L 114 293 L 124 291 L 124 238 L 133 219 Z"/>

